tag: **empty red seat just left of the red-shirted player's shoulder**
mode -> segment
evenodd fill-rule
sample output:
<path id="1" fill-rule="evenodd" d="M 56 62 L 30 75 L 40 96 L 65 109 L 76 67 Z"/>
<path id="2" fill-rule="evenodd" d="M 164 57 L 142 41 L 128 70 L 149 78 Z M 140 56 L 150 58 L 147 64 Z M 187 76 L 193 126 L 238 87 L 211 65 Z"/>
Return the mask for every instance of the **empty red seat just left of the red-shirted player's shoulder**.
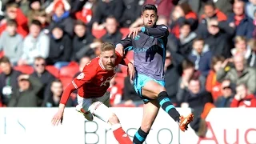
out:
<path id="1" fill-rule="evenodd" d="M 78 71 L 79 66 L 64 66 L 61 68 L 59 76 L 74 78 L 74 74 L 77 74 Z"/>

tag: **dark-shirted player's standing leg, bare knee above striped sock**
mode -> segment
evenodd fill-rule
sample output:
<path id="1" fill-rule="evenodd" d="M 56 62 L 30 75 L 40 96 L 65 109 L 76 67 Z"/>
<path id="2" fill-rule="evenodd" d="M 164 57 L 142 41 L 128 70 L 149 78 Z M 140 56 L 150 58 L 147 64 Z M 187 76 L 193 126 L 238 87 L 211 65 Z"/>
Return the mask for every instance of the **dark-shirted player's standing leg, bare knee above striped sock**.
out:
<path id="1" fill-rule="evenodd" d="M 147 134 L 149 134 L 154 119 L 158 115 L 159 105 L 158 102 L 152 100 L 146 102 L 143 106 L 143 118 L 142 125 L 134 135 L 134 144 L 142 144 L 146 140 Z"/>

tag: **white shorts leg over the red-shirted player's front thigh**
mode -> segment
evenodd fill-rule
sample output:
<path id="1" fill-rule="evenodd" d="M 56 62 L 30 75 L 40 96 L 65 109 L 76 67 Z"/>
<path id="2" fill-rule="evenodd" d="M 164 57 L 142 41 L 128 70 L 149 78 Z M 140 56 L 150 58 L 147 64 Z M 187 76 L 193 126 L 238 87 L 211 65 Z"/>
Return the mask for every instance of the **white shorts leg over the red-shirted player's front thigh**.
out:
<path id="1" fill-rule="evenodd" d="M 94 114 L 95 117 L 102 119 L 104 122 L 108 122 L 113 115 L 110 108 L 104 105 L 102 102 L 94 102 L 89 107 L 89 110 L 91 114 Z"/>

